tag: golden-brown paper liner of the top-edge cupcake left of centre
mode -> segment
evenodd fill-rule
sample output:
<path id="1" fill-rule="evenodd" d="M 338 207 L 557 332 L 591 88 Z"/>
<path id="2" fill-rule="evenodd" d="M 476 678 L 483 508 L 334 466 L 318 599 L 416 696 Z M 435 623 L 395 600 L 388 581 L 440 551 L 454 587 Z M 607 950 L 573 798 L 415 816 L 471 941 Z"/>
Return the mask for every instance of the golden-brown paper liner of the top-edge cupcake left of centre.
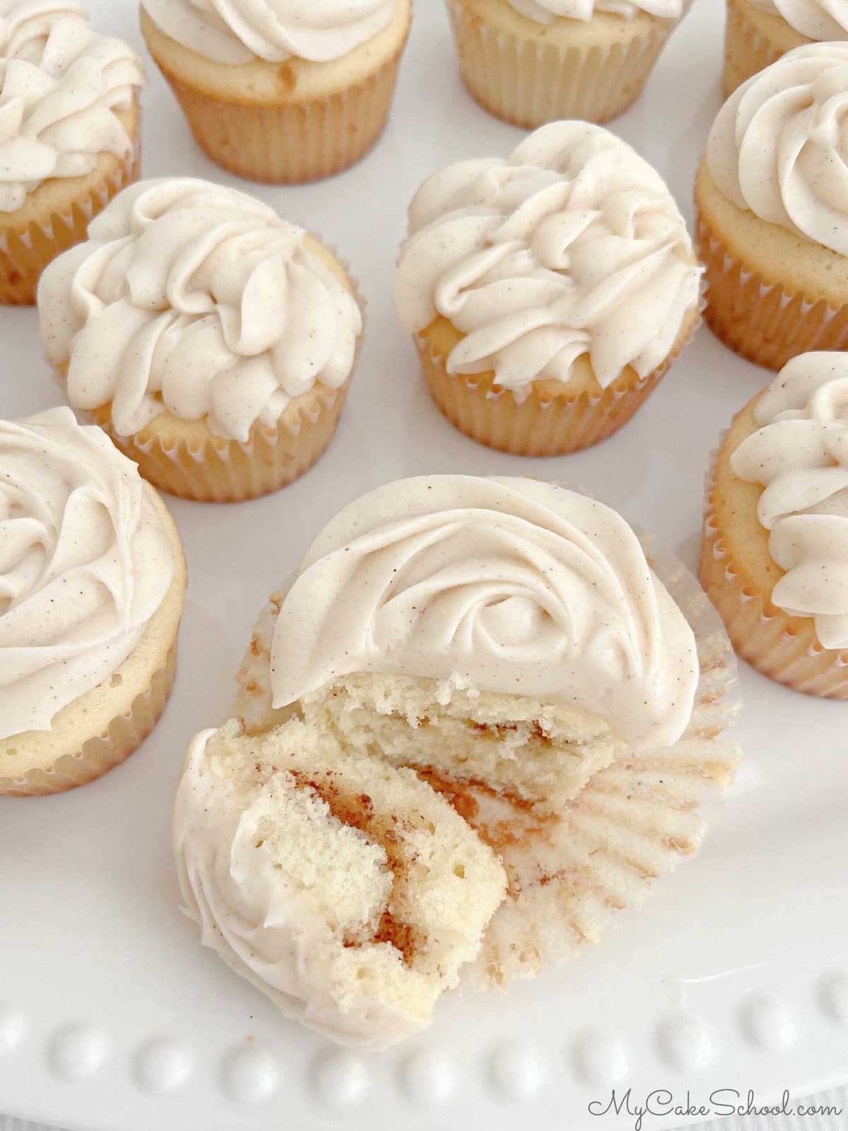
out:
<path id="1" fill-rule="evenodd" d="M 222 169 L 250 181 L 302 184 L 355 165 L 377 144 L 395 96 L 400 58 L 347 90 L 277 105 L 223 102 L 159 69 L 194 140 Z"/>

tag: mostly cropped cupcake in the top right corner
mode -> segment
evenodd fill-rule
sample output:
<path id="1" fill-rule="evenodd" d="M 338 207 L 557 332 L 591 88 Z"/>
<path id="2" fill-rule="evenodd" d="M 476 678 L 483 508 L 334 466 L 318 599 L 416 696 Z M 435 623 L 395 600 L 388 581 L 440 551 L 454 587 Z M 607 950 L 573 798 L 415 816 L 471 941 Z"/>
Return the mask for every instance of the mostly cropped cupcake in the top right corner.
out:
<path id="1" fill-rule="evenodd" d="M 787 51 L 837 40 L 848 40 L 845 0 L 727 0 L 725 97 Z"/>

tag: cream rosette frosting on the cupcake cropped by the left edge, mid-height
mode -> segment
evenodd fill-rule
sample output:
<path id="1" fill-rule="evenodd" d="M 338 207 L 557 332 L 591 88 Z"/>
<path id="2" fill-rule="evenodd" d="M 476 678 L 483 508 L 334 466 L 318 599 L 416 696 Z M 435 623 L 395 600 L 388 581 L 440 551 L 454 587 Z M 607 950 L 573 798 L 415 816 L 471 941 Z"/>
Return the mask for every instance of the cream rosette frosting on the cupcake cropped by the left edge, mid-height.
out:
<path id="1" fill-rule="evenodd" d="M 0 422 L 0 737 L 127 658 L 173 576 L 137 466 L 70 408 Z"/>

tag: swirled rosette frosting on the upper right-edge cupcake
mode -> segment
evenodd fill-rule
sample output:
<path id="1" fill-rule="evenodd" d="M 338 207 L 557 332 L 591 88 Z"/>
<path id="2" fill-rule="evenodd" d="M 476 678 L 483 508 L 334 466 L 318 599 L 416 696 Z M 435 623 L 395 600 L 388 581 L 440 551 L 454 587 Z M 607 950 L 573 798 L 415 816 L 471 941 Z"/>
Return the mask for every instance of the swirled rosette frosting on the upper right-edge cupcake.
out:
<path id="1" fill-rule="evenodd" d="M 789 51 L 719 111 L 712 180 L 737 208 L 848 256 L 848 44 Z"/>

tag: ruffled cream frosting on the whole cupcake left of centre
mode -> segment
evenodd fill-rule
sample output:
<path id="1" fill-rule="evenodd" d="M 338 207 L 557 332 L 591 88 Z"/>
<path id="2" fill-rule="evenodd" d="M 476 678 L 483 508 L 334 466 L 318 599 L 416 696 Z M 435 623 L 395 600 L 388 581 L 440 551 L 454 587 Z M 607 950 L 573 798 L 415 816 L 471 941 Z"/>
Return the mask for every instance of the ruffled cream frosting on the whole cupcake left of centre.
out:
<path id="1" fill-rule="evenodd" d="M 90 224 L 38 286 L 49 360 L 68 398 L 111 404 L 121 435 L 167 409 L 246 441 L 317 382 L 351 375 L 362 314 L 260 201 L 205 181 L 142 181 Z"/>

